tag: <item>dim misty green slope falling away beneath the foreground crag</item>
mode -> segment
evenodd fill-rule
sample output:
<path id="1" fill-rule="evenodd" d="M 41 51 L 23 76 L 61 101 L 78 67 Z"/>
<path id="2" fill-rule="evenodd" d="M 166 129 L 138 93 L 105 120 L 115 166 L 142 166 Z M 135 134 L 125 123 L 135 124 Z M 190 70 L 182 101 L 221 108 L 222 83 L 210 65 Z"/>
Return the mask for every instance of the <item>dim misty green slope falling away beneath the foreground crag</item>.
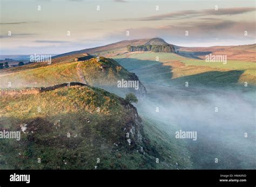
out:
<path id="1" fill-rule="evenodd" d="M 176 127 L 166 128 L 165 123 L 151 118 L 147 115 L 143 117 L 144 132 L 151 140 L 152 145 L 156 145 L 156 151 L 161 155 L 160 164 L 157 169 L 192 169 L 191 155 L 185 148 L 185 143 L 170 136 L 167 132 L 176 132 Z"/>

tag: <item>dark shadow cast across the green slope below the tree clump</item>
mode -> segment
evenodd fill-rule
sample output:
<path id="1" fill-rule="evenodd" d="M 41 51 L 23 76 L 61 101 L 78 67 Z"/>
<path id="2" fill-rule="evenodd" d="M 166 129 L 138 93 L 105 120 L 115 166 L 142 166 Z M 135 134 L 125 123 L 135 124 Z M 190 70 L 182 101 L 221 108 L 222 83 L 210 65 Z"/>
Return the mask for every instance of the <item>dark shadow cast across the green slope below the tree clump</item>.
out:
<path id="1" fill-rule="evenodd" d="M 210 52 L 207 52 L 210 53 Z M 206 54 L 206 53 L 205 53 Z M 208 71 L 205 73 L 173 78 L 172 66 L 165 66 L 162 62 L 139 59 L 116 59 L 124 68 L 135 73 L 145 84 L 189 87 L 232 87 L 237 84 L 244 70 Z"/>

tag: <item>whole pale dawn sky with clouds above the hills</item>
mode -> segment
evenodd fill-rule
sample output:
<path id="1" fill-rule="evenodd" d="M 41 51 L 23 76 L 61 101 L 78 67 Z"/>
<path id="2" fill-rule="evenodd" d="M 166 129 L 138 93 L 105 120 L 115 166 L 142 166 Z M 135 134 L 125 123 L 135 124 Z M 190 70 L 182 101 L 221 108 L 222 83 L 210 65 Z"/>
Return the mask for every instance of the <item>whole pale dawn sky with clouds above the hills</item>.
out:
<path id="1" fill-rule="evenodd" d="M 186 47 L 255 44 L 254 0 L 0 0 L 0 5 L 0 55 L 60 54 L 155 37 Z"/>

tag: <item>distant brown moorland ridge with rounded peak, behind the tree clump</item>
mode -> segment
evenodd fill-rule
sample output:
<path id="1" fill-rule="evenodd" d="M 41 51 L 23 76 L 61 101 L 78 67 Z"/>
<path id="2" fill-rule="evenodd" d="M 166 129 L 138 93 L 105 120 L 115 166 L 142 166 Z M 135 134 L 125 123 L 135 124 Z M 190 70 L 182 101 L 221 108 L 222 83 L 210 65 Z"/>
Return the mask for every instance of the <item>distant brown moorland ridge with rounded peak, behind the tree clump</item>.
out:
<path id="1" fill-rule="evenodd" d="M 180 56 L 188 57 L 191 59 L 204 59 L 205 55 L 213 53 L 216 55 L 226 54 L 228 59 L 230 60 L 245 60 L 255 62 L 256 44 L 241 46 L 181 47 L 173 44 L 168 44 L 166 41 L 164 41 L 164 39 L 161 38 L 124 40 L 105 46 L 82 49 L 80 51 L 73 51 L 69 53 L 56 55 L 53 57 L 53 59 L 63 56 L 78 55 L 84 53 L 89 53 L 91 55 L 102 55 L 105 57 L 118 56 L 125 53 L 129 53 L 129 51 L 127 51 L 127 46 L 129 45 L 170 45 L 173 47 L 173 52 L 178 52 Z"/>

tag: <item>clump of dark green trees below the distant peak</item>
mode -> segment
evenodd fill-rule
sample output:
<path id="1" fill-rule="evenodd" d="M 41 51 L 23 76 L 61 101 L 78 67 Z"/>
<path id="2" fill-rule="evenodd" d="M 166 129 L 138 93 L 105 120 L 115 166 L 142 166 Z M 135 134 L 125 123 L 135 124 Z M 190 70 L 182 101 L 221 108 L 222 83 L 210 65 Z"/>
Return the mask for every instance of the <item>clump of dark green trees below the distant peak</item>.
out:
<path id="1" fill-rule="evenodd" d="M 127 51 L 152 51 L 152 52 L 165 52 L 171 53 L 174 52 L 175 49 L 172 45 L 139 45 L 139 46 L 127 46 Z"/>

